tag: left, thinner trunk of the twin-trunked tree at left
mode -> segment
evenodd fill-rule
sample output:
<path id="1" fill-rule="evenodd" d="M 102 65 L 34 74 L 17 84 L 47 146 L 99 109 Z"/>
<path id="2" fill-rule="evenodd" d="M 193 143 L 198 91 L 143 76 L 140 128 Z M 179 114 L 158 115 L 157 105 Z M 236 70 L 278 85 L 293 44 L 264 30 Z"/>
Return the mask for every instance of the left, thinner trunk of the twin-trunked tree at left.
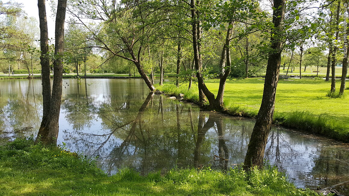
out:
<path id="1" fill-rule="evenodd" d="M 49 35 L 47 32 L 47 19 L 46 19 L 46 7 L 45 0 L 38 0 L 39 9 L 39 26 L 40 26 L 40 64 L 42 74 L 42 91 L 43 91 L 43 118 L 40 127 L 46 124 L 47 116 L 50 111 L 51 102 L 51 83 L 50 83 L 50 60 L 49 60 Z M 43 132 L 38 135 L 44 136 Z M 37 138 L 38 140 L 39 138 Z"/>

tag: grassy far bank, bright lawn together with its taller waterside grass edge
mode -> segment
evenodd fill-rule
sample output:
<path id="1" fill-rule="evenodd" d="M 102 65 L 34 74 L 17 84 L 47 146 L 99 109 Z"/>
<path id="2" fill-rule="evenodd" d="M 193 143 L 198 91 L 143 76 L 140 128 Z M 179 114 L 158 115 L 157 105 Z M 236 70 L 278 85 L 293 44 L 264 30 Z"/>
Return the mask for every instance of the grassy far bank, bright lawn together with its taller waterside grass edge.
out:
<path id="1" fill-rule="evenodd" d="M 205 81 L 213 93 L 217 93 L 219 80 Z M 263 95 L 262 78 L 249 78 L 240 81 L 227 81 L 225 86 L 225 113 L 233 116 L 254 118 L 257 116 Z M 349 142 L 349 95 L 339 99 L 327 97 L 331 81 L 314 79 L 280 80 L 275 102 L 274 123 L 290 128 L 325 135 Z M 337 88 L 340 83 L 337 82 Z M 184 99 L 198 102 L 198 90 L 191 91 L 183 85 L 157 86 L 166 94 L 185 94 Z M 346 90 L 346 94 L 349 91 Z"/>

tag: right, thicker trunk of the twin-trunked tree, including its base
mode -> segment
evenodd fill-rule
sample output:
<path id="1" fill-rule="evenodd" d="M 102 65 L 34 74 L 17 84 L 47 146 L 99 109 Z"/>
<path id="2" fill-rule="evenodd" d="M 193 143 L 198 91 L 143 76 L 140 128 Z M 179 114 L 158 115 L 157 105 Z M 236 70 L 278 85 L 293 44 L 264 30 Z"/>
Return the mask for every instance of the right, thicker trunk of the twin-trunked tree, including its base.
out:
<path id="1" fill-rule="evenodd" d="M 40 126 L 38 138 L 44 145 L 57 144 L 58 131 L 59 131 L 59 113 L 61 107 L 62 98 L 62 74 L 63 74 L 63 62 L 62 57 L 64 53 L 64 21 L 67 7 L 67 0 L 58 0 L 57 14 L 55 23 L 55 47 L 54 55 L 56 56 L 53 61 L 53 86 L 50 102 L 49 115 L 46 123 Z"/>

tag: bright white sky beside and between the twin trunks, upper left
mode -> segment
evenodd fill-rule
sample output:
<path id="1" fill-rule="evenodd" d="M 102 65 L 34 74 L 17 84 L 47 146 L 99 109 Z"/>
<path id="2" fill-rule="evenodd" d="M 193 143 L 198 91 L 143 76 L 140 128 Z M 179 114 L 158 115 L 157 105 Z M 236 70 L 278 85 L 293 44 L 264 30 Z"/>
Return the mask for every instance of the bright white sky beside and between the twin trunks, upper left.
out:
<path id="1" fill-rule="evenodd" d="M 37 0 L 11 0 L 14 2 L 22 3 L 22 10 L 27 13 L 28 17 L 35 17 L 39 22 L 39 10 L 38 10 L 38 1 Z M 50 0 L 45 1 L 46 3 L 46 16 L 47 16 L 47 28 L 49 32 L 49 38 L 54 39 L 54 23 L 55 19 L 52 17 L 52 11 L 50 7 Z M 38 26 L 39 28 L 39 26 Z"/>

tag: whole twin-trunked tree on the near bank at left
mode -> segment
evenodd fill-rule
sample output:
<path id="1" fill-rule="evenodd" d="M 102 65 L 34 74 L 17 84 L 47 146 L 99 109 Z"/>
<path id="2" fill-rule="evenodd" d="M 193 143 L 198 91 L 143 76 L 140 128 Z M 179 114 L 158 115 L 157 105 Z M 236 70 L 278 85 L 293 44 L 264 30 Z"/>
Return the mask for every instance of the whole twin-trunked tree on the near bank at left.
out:
<path id="1" fill-rule="evenodd" d="M 42 68 L 45 69 L 43 73 L 43 78 L 45 77 L 45 86 L 43 79 L 43 99 L 49 99 L 49 101 L 44 100 L 43 102 L 49 103 L 49 108 L 46 109 L 46 116 L 41 123 L 37 141 L 42 142 L 44 145 L 57 144 L 57 137 L 59 131 L 59 113 L 61 107 L 61 97 L 62 97 L 62 74 L 63 74 L 63 53 L 64 53 L 64 22 L 66 13 L 67 0 L 58 0 L 57 4 L 57 14 L 55 22 L 55 48 L 54 48 L 54 61 L 53 61 L 53 86 L 52 94 L 47 91 L 47 86 L 50 85 L 50 72 L 47 72 L 47 59 L 43 59 Z M 39 8 L 39 18 L 40 18 L 40 40 L 46 38 L 47 33 L 47 21 L 46 21 L 46 11 L 45 11 L 45 1 L 38 0 Z M 46 22 L 46 23 L 45 23 Z M 46 28 L 45 28 L 46 27 Z M 43 37 L 41 37 L 43 35 Z M 46 40 L 42 41 L 46 42 Z M 42 46 L 45 47 L 45 46 Z M 46 48 L 44 48 L 46 50 Z M 43 53 L 43 52 L 42 52 Z M 47 53 L 43 54 L 47 55 Z M 46 79 L 49 78 L 47 81 Z M 48 84 L 46 83 L 48 82 Z M 45 88 L 45 89 L 44 89 Z M 47 93 L 47 94 L 45 94 Z M 48 110 L 48 111 L 47 111 Z"/>

